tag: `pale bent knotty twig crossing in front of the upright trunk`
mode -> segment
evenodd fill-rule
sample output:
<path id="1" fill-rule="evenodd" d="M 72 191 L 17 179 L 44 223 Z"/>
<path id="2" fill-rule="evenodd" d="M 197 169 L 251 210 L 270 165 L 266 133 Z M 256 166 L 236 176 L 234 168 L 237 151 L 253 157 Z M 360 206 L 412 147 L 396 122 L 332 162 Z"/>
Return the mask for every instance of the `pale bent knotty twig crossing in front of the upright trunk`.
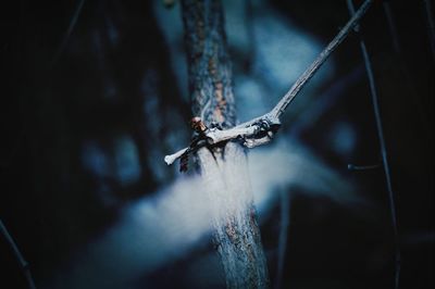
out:
<path id="1" fill-rule="evenodd" d="M 266 114 L 256 117 L 249 122 L 237 125 L 233 128 L 225 130 L 210 130 L 206 134 L 210 144 L 215 144 L 231 139 L 243 138 L 244 146 L 247 148 L 254 148 L 271 141 L 272 136 L 276 133 L 277 127 L 281 125 L 279 116 L 286 110 L 288 104 L 296 98 L 302 87 L 308 80 L 313 77 L 314 73 L 322 66 L 326 59 L 334 52 L 334 50 L 343 42 L 343 40 L 350 34 L 353 27 L 359 23 L 361 17 L 365 14 L 373 0 L 365 0 L 355 15 L 348 21 L 345 27 L 337 34 L 337 36 L 327 45 L 327 47 L 319 54 L 314 62 L 307 68 L 307 71 L 296 80 L 287 93 L 279 100 L 279 102 Z M 269 127 L 269 128 L 265 128 Z M 264 136 L 259 137 L 259 134 Z M 179 150 L 178 152 L 166 155 L 164 158 L 167 165 L 172 164 L 176 159 L 188 152 L 188 148 Z"/>

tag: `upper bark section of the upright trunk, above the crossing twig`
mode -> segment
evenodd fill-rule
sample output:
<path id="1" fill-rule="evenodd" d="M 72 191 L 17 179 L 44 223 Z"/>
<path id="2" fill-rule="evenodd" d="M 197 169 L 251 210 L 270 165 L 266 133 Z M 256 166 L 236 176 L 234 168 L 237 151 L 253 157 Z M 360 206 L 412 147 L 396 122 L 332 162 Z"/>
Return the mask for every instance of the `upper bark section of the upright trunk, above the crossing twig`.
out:
<path id="1" fill-rule="evenodd" d="M 236 121 L 220 1 L 182 1 L 192 113 L 207 124 Z"/>

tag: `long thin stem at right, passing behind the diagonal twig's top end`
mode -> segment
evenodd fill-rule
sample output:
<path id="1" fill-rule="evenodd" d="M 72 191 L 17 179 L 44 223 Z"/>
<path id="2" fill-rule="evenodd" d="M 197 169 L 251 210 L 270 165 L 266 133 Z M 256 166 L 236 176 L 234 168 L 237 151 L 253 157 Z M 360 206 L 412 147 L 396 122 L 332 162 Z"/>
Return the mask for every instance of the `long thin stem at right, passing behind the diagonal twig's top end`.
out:
<path id="1" fill-rule="evenodd" d="M 347 0 L 347 5 L 349 9 L 349 13 L 353 14 L 355 8 L 353 8 L 352 0 Z M 394 234 L 394 240 L 395 240 L 395 259 L 396 259 L 395 260 L 395 288 L 398 289 L 399 288 L 399 279 L 400 279 L 401 255 L 400 255 L 399 231 L 398 231 L 398 226 L 397 226 L 395 193 L 393 191 L 393 186 L 391 186 L 391 176 L 390 176 L 390 172 L 389 172 L 387 150 L 386 150 L 386 144 L 385 144 L 385 138 L 384 138 L 384 131 L 383 131 L 383 125 L 382 125 L 382 118 L 381 118 L 381 111 L 380 111 L 380 106 L 378 106 L 376 84 L 374 80 L 372 63 L 371 63 L 371 60 L 369 56 L 369 52 L 366 50 L 365 42 L 362 38 L 360 39 L 360 48 L 361 48 L 361 53 L 362 53 L 364 64 L 365 64 L 365 71 L 366 71 L 368 78 L 369 78 L 370 92 L 371 92 L 372 102 L 373 102 L 373 111 L 374 111 L 374 115 L 375 115 L 375 120 L 376 120 L 377 137 L 378 137 L 380 146 L 381 146 L 382 162 L 383 162 L 383 167 L 384 167 L 384 173 L 385 173 L 385 180 L 386 180 L 387 189 L 388 189 L 390 218 L 391 218 L 393 234 Z"/>

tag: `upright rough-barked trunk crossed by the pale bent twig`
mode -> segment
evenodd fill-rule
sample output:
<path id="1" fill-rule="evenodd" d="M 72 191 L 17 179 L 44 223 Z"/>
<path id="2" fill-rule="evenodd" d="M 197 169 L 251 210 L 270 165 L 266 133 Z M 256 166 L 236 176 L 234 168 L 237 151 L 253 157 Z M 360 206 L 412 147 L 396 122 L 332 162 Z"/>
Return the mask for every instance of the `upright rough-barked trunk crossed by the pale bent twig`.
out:
<path id="1" fill-rule="evenodd" d="M 208 126 L 236 123 L 231 61 L 219 0 L 184 0 L 192 114 Z M 265 288 L 268 269 L 256 221 L 246 155 L 240 144 L 203 148 L 197 162 L 210 198 L 214 242 L 227 288 Z"/>

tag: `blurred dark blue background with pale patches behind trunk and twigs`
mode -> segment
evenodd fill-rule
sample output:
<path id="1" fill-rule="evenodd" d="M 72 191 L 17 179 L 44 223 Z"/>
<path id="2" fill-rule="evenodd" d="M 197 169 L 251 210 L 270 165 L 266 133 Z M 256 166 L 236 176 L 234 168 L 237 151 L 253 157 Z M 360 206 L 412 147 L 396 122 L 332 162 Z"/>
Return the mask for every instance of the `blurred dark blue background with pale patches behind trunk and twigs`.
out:
<path id="1" fill-rule="evenodd" d="M 38 288 L 225 287 L 201 183 L 163 162 L 191 135 L 179 3 L 163 2 L 1 9 L 0 217 Z M 376 1 L 361 23 L 397 205 L 400 288 L 434 286 L 431 4 Z M 223 5 L 240 122 L 269 111 L 349 18 L 345 0 Z M 359 39 L 350 35 L 310 80 L 274 141 L 248 152 L 273 287 L 393 288 Z M 0 287 L 26 288 L 3 236 L 0 256 Z"/>

